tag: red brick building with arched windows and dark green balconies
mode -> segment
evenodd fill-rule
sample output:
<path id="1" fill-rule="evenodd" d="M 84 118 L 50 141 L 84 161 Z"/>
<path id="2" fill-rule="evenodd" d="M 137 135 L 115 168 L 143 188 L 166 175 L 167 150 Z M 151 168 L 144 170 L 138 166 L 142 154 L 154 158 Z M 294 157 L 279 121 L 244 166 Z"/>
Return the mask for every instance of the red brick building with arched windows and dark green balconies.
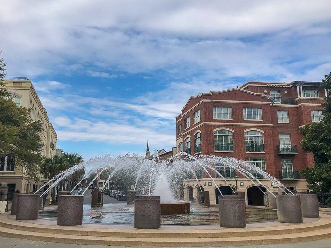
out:
<path id="1" fill-rule="evenodd" d="M 239 88 L 192 96 L 176 117 L 177 152 L 250 161 L 292 190 L 305 191 L 306 182 L 300 171 L 314 164 L 312 155 L 300 147 L 302 136 L 299 131 L 323 117 L 321 104 L 326 94 L 326 90 L 320 88 L 320 82 L 253 81 Z M 227 167 L 216 168 L 233 182 L 234 171 Z M 216 178 L 215 173 L 212 175 Z M 246 192 L 249 204 L 260 190 L 251 188 L 254 184 L 238 176 L 238 190 Z M 218 189 L 209 188 L 207 179 L 207 175 L 203 175 L 201 181 L 205 190 L 210 191 L 213 203 L 217 203 Z M 187 199 L 196 194 L 195 184 L 190 180 L 185 182 Z M 218 187 L 224 186 L 223 190 L 227 191 L 223 184 L 219 179 Z M 272 189 L 267 182 L 265 185 Z M 236 187 L 235 182 L 233 187 Z"/>

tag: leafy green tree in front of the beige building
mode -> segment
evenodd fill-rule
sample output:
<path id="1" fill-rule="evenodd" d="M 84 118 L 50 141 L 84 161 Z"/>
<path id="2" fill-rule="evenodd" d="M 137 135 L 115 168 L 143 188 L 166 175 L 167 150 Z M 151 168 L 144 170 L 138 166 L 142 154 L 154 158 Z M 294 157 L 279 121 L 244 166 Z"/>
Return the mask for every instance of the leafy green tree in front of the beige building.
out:
<path id="1" fill-rule="evenodd" d="M 0 59 L 0 154 L 15 156 L 16 167 L 22 166 L 24 175 L 38 180 L 39 166 L 43 160 L 40 121 L 33 121 L 30 109 L 18 107 L 5 89 L 3 76 L 5 63 Z"/>

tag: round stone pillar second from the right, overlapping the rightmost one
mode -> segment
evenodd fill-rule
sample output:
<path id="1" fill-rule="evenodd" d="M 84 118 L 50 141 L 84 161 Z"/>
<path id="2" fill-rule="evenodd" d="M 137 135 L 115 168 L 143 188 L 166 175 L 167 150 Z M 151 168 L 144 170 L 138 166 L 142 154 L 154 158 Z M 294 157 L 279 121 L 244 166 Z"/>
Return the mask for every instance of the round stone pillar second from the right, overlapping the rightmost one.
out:
<path id="1" fill-rule="evenodd" d="M 277 195 L 277 214 L 281 223 L 303 223 L 300 195 Z"/>

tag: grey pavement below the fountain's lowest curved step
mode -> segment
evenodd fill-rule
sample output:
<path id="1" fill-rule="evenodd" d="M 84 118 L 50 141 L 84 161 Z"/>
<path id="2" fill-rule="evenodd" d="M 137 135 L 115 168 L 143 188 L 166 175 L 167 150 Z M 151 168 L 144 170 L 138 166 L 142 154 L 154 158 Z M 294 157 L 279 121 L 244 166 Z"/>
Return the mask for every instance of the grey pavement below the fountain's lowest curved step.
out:
<path id="1" fill-rule="evenodd" d="M 0 237 L 1 248 L 109 248 L 114 246 L 100 246 L 100 245 L 79 245 L 79 244 L 63 244 L 50 243 L 31 240 L 13 239 L 8 237 Z M 304 242 L 304 243 L 290 243 L 290 244 L 270 244 L 270 245 L 250 245 L 250 246 L 222 246 L 221 248 L 330 248 L 331 238 Z M 123 247 L 121 247 L 123 248 Z M 216 247 L 212 247 L 216 248 Z"/>

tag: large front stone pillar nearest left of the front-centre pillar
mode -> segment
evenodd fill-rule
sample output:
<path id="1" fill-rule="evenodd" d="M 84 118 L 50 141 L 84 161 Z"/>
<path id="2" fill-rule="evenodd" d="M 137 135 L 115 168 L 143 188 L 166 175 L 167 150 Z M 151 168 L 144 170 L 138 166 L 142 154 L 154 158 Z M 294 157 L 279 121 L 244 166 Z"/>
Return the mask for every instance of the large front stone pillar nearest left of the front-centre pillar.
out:
<path id="1" fill-rule="evenodd" d="M 57 225 L 82 225 L 83 195 L 60 195 L 57 210 Z"/>

